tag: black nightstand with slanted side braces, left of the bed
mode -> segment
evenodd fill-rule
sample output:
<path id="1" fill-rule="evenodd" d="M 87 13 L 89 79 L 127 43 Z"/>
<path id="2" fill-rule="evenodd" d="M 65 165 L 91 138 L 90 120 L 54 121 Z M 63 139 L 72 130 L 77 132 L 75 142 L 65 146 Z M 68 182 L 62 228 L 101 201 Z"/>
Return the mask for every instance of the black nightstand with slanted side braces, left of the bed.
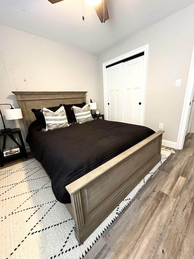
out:
<path id="1" fill-rule="evenodd" d="M 15 140 L 13 134 L 19 135 L 21 145 Z M 3 155 L 3 150 L 5 149 L 6 136 L 10 137 L 15 142 L 15 144 L 18 145 L 19 150 L 20 150 L 19 153 L 13 154 L 13 155 L 8 155 L 8 156 Z M 2 151 L 0 149 L 0 166 L 3 166 L 4 162 L 9 162 L 14 159 L 18 159 L 21 157 L 28 158 L 20 128 L 15 128 L 15 129 L 12 129 L 12 131 L 7 131 L 7 132 L 0 131 L 0 137 L 3 137 L 3 149 L 2 149 Z"/>

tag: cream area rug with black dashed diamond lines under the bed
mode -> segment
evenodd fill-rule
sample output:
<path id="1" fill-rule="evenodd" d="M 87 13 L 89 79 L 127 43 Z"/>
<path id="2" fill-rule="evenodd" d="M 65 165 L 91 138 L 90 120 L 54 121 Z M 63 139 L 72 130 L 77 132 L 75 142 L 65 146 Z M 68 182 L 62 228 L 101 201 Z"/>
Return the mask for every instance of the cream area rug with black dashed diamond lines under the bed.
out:
<path id="1" fill-rule="evenodd" d="M 72 217 L 55 199 L 51 181 L 36 159 L 1 169 L 0 258 L 83 258 L 172 153 L 162 148 L 161 161 L 82 245 L 75 238 Z"/>

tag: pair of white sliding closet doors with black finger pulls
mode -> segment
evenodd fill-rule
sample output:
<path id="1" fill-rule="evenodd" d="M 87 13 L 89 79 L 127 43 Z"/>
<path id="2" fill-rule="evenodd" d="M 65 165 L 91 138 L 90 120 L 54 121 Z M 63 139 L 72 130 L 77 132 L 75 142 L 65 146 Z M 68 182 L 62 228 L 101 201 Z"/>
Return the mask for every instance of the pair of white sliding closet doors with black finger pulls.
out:
<path id="1" fill-rule="evenodd" d="M 106 68 L 106 120 L 141 124 L 144 56 Z"/>

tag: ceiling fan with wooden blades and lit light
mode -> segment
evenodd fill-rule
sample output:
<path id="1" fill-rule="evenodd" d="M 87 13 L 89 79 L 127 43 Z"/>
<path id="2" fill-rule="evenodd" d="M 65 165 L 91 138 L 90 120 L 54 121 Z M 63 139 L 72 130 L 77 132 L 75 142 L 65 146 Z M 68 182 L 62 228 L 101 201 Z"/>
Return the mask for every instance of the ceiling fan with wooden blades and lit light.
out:
<path id="1" fill-rule="evenodd" d="M 57 2 L 61 2 L 63 0 L 49 0 L 49 2 L 51 2 L 52 4 L 55 4 Z M 93 0 L 84 0 L 87 4 L 89 4 L 89 2 L 92 2 Z M 96 1 L 93 1 L 96 2 Z M 106 0 L 99 0 L 98 2 L 100 2 L 99 4 L 95 5 L 95 11 L 100 19 L 101 22 L 105 22 L 106 20 L 109 19 L 109 13 L 108 13 L 108 8 L 106 5 Z M 89 5 L 94 5 L 94 4 L 89 4 Z M 83 20 L 84 20 L 84 16 L 83 16 Z"/>

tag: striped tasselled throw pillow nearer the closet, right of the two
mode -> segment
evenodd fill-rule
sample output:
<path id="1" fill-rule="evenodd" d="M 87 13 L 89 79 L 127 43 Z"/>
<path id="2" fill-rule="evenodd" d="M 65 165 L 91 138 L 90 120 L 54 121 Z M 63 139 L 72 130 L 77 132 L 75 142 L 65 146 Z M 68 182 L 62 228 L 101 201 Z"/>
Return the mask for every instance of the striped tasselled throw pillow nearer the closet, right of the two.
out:
<path id="1" fill-rule="evenodd" d="M 72 106 L 71 109 L 73 109 L 76 121 L 79 123 L 85 123 L 94 120 L 89 109 L 89 104 L 85 104 L 82 108 Z"/>

